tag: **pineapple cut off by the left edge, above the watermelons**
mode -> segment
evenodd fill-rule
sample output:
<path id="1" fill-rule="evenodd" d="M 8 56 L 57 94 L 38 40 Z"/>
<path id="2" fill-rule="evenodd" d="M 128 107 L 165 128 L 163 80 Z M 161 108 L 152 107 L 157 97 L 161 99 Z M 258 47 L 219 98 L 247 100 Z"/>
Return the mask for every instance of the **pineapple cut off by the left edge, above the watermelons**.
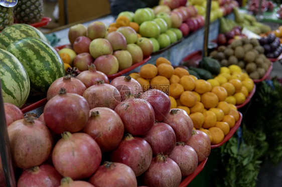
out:
<path id="1" fill-rule="evenodd" d="M 13 8 L 0 5 L 0 31 L 14 23 Z"/>

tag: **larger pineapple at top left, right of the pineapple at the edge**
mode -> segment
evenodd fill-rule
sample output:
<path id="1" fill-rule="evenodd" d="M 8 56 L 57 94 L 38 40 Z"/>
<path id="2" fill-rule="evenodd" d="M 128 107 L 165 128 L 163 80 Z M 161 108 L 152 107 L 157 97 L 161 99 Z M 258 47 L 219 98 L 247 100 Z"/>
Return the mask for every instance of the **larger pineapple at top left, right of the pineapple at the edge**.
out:
<path id="1" fill-rule="evenodd" d="M 43 17 L 43 0 L 19 0 L 14 8 L 17 23 L 32 24 Z"/>

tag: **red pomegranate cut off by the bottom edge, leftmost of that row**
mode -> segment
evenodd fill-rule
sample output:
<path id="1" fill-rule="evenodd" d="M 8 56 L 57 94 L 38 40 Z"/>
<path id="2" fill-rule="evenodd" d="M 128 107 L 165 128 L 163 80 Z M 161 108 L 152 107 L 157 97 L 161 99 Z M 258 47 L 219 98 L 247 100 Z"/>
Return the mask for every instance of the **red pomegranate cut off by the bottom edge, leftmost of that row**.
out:
<path id="1" fill-rule="evenodd" d="M 61 178 L 60 173 L 52 165 L 43 164 L 25 170 L 18 180 L 17 187 L 58 187 Z"/>

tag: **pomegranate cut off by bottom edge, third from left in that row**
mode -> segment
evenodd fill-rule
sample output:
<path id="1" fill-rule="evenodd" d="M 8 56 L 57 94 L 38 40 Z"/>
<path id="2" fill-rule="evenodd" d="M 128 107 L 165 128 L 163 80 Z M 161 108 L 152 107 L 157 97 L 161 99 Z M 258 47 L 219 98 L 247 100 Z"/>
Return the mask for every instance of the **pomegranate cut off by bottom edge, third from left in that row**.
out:
<path id="1" fill-rule="evenodd" d="M 105 161 L 91 176 L 89 182 L 99 187 L 136 187 L 137 180 L 133 170 L 118 162 Z"/>

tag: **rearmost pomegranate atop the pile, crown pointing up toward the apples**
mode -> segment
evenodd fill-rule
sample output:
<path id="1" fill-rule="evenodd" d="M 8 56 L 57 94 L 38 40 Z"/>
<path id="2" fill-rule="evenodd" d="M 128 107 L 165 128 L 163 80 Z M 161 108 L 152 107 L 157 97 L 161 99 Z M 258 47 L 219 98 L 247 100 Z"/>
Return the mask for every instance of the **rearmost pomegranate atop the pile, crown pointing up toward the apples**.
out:
<path id="1" fill-rule="evenodd" d="M 97 80 L 104 80 L 105 83 L 109 83 L 107 75 L 101 71 L 97 71 L 93 63 L 88 66 L 88 70 L 82 71 L 75 78 L 81 80 L 86 88 L 94 85 Z"/>

